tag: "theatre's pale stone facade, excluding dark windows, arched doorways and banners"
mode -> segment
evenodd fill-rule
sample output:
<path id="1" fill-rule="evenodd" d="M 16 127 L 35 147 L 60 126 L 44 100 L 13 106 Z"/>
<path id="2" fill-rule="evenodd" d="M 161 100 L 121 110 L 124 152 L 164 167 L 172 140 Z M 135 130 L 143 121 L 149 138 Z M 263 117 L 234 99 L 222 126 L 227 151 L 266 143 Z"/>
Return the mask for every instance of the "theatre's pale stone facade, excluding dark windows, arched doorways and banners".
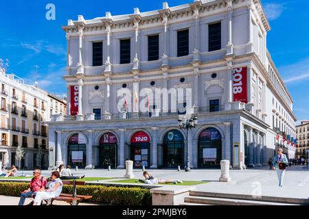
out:
<path id="1" fill-rule="evenodd" d="M 209 51 L 209 24 L 218 22 L 221 49 Z M 293 100 L 266 49 L 270 26 L 259 0 L 194 1 L 172 8 L 163 3 L 163 9 L 152 12 L 139 12 L 138 8 L 134 14 L 120 16 L 106 12 L 104 17 L 87 21 L 78 16 L 78 21 L 69 20 L 62 29 L 67 35 L 67 96 L 70 100 L 69 86 L 78 86 L 79 105 L 76 116 L 70 116 L 69 103 L 68 116 L 54 117 L 49 123 L 51 168 L 56 162 L 70 163 L 68 141 L 76 133 L 84 140 L 87 166 L 102 166 L 100 138 L 113 133 L 117 138 L 114 167 L 124 168 L 126 159 L 132 159 L 131 138 L 137 131 L 150 138 L 148 166 L 167 167 L 164 138 L 169 131 L 179 130 L 178 115 L 159 109 L 151 117 L 134 113 L 123 117 L 117 110 L 117 91 L 124 83 L 130 90 L 133 83 L 137 90 L 192 88 L 198 125 L 188 135 L 179 130 L 183 134 L 182 164 L 188 148 L 192 168 L 201 166 L 199 136 L 207 128 L 220 133 L 218 158 L 240 169 L 266 165 L 275 154 L 277 132 L 280 140 L 284 133 L 295 137 Z M 189 55 L 177 57 L 177 31 L 181 29 L 189 29 Z M 148 36 L 153 34 L 159 34 L 159 60 L 148 61 Z M 119 64 L 119 40 L 124 38 L 130 38 L 131 62 Z M 93 42 L 102 42 L 102 66 L 92 66 Z M 233 102 L 232 73 L 240 67 L 248 69 L 248 103 Z M 216 77 L 212 77 L 214 73 Z M 185 80 L 181 82 L 181 78 Z M 215 99 L 218 110 L 209 112 L 209 101 Z M 133 97 L 130 102 L 131 109 Z M 97 108 L 102 116 L 94 120 L 93 109 Z M 279 123 L 273 118 L 280 121 L 280 129 L 275 129 Z M 237 144 L 239 151 L 233 153 Z M 288 157 L 294 157 L 295 149 L 281 144 Z"/>

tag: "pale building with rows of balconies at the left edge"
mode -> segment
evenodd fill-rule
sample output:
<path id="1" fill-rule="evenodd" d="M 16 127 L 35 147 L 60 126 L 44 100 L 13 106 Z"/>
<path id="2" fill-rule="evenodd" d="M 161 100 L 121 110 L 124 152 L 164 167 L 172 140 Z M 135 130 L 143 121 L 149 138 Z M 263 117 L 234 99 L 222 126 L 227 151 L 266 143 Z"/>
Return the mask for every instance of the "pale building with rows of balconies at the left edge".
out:
<path id="1" fill-rule="evenodd" d="M 18 168 L 24 169 L 47 168 L 49 141 L 45 122 L 51 117 L 50 99 L 58 101 L 58 97 L 25 84 L 20 77 L 5 73 L 4 68 L 0 72 L 0 162 L 7 168 L 12 164 L 21 164 Z M 18 146 L 25 153 L 20 162 L 16 158 Z"/>

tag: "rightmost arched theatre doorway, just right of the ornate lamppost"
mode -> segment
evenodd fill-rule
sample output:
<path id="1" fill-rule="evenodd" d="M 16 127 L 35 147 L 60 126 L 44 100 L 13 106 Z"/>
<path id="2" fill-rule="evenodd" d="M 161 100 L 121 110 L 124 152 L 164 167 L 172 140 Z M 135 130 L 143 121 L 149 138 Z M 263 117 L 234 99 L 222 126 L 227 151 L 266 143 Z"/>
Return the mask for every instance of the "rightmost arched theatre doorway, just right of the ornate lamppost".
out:
<path id="1" fill-rule="evenodd" d="M 198 167 L 220 167 L 222 160 L 222 136 L 215 128 L 207 128 L 198 136 Z"/>

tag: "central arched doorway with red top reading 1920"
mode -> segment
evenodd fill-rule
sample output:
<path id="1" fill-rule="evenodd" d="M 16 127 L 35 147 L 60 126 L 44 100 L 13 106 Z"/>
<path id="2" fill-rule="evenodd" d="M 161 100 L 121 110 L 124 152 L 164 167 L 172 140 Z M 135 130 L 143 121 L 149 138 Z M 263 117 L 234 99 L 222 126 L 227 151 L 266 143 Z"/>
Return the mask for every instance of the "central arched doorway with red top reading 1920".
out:
<path id="1" fill-rule="evenodd" d="M 149 167 L 150 137 L 144 131 L 137 131 L 131 138 L 130 157 L 134 168 Z"/>

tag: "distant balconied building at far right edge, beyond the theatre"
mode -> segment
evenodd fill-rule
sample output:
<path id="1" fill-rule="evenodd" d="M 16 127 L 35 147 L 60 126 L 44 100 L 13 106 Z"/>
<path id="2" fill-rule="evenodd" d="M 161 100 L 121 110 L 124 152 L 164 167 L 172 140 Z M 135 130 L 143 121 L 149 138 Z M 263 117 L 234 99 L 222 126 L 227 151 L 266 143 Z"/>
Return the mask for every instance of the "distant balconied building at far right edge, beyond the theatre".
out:
<path id="1" fill-rule="evenodd" d="M 308 159 L 309 153 L 309 120 L 302 121 L 300 125 L 296 126 L 296 158 Z"/>

